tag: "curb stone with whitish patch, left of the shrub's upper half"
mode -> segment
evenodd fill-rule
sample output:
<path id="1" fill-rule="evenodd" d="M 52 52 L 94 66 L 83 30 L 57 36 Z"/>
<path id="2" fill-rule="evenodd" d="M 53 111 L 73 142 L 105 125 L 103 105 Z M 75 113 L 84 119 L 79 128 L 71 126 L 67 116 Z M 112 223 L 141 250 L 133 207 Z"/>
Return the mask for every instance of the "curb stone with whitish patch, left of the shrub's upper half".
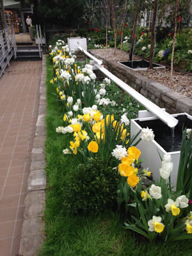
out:
<path id="1" fill-rule="evenodd" d="M 46 188 L 45 170 L 35 170 L 29 173 L 28 191 L 35 191 Z"/>

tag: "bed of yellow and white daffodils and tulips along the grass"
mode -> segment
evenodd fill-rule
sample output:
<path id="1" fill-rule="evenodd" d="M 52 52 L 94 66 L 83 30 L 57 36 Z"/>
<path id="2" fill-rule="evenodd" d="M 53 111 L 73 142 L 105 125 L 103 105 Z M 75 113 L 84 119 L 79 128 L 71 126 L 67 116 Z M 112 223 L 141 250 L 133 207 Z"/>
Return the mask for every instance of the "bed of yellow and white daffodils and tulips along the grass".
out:
<path id="1" fill-rule="evenodd" d="M 108 95 L 113 87 L 111 81 L 106 78 L 97 84 L 92 66 L 76 63 L 76 56 L 72 56 L 67 45 L 54 48 L 51 56 L 55 68 L 51 83 L 56 84 L 56 97 L 64 109 L 62 126 L 56 127 L 56 132 L 70 138 L 63 154 L 72 154 L 81 164 L 90 164 L 90 160 L 99 157 L 113 168 L 119 180 L 118 209 L 124 203 L 126 212 L 132 214 L 126 228 L 150 241 L 158 235 L 165 241 L 192 238 L 190 191 L 184 195 L 184 189 L 170 188 L 170 180 L 166 184 L 173 170 L 170 156 L 164 156 L 162 168 L 159 166 L 161 180 L 143 188 L 143 180 L 150 177 L 152 170 L 141 167 L 145 159 L 139 159 L 141 152 L 136 145 L 140 140 L 154 140 L 151 129 L 143 129 L 141 138 L 140 132 L 130 138 L 126 108 L 121 108 L 123 113 L 118 113 L 117 119 L 113 113 L 117 103 L 114 95 Z"/>

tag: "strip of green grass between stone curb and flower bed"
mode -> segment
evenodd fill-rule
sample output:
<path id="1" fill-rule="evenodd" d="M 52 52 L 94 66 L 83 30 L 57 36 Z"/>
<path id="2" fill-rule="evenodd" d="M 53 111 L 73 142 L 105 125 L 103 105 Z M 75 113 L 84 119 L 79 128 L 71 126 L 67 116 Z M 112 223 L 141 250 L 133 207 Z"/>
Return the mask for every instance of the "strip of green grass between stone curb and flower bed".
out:
<path id="1" fill-rule="evenodd" d="M 191 256 L 191 241 L 171 244 L 163 241 L 150 243 L 145 237 L 125 230 L 125 219 L 114 209 L 97 216 L 74 216 L 67 212 L 63 205 L 63 186 L 67 174 L 76 172 L 78 163 L 72 155 L 62 154 L 63 148 L 69 143 L 69 138 L 67 134 L 56 133 L 56 127 L 63 125 L 64 109 L 54 95 L 56 84 L 49 83 L 52 77 L 53 68 L 47 58 L 47 201 L 44 217 L 46 240 L 38 255 Z"/>

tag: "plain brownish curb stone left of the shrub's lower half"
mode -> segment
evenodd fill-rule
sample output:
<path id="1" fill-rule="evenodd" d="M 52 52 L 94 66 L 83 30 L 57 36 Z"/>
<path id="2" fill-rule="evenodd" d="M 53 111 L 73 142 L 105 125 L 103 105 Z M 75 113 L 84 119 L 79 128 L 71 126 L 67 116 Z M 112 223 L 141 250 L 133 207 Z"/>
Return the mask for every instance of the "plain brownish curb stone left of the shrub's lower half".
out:
<path id="1" fill-rule="evenodd" d="M 31 191 L 27 194 L 24 202 L 24 217 L 43 217 L 45 211 L 46 194 L 44 190 Z"/>

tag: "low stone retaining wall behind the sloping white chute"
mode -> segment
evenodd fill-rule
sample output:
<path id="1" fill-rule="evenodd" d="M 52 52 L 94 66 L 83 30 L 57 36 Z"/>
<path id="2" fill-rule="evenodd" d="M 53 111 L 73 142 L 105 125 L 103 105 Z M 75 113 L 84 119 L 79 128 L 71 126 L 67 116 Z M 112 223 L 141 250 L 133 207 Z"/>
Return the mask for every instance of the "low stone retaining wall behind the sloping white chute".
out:
<path id="1" fill-rule="evenodd" d="M 192 115 L 192 99 L 189 99 L 182 93 L 170 90 L 170 88 L 152 79 L 141 76 L 120 63 L 95 53 L 93 50 L 89 52 L 97 59 L 102 60 L 103 65 L 105 65 L 112 74 L 131 85 L 136 91 L 141 93 L 141 95 L 154 102 L 160 108 L 166 108 L 168 113 L 175 114 L 185 112 Z"/>

